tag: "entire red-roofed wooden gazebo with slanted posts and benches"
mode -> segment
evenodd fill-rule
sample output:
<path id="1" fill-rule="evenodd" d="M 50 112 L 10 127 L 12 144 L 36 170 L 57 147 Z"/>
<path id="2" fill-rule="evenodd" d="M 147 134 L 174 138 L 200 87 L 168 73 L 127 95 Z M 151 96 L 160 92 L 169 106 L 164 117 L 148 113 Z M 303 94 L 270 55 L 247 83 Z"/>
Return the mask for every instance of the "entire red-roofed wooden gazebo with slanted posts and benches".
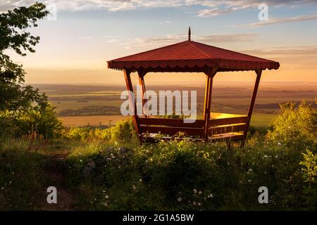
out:
<path id="1" fill-rule="evenodd" d="M 132 72 L 137 72 L 139 85 L 142 86 L 142 96 L 145 93 L 144 76 L 149 72 L 204 72 L 206 75 L 204 115 L 202 120 L 196 120 L 194 123 L 185 123 L 182 119 L 138 116 L 136 103 L 133 103 L 132 96 L 129 96 L 130 104 L 135 106 L 133 120 L 140 141 L 148 134 L 173 136 L 181 131 L 195 140 L 241 141 L 241 146 L 244 146 L 247 138 L 261 72 L 266 69 L 277 70 L 280 67 L 280 63 L 272 60 L 192 41 L 190 27 L 187 41 L 117 58 L 107 63 L 108 68 L 123 70 L 128 91 L 133 91 L 130 75 Z M 213 77 L 216 73 L 248 70 L 256 72 L 256 82 L 247 115 L 211 113 L 211 93 Z"/>

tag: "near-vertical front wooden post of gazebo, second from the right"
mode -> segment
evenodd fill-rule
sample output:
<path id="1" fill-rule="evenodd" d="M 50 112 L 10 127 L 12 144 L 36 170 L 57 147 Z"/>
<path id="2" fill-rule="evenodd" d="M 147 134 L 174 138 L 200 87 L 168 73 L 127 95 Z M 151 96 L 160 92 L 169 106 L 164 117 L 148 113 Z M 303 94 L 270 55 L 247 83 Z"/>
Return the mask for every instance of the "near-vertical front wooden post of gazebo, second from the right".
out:
<path id="1" fill-rule="evenodd" d="M 206 89 L 204 99 L 204 141 L 208 141 L 208 129 L 211 113 L 211 95 L 213 89 L 213 77 L 216 75 L 218 67 L 209 68 L 206 73 Z"/>

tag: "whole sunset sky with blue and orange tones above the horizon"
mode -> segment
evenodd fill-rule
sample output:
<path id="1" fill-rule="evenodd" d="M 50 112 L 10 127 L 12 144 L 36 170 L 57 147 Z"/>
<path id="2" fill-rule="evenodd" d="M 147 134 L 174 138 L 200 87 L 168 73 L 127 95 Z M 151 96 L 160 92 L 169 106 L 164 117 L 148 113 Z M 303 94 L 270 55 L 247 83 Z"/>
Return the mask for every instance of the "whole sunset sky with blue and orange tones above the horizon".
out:
<path id="1" fill-rule="evenodd" d="M 316 0 L 51 0 L 32 28 L 40 43 L 22 57 L 30 84 L 124 84 L 107 60 L 187 40 L 280 62 L 262 82 L 317 82 Z M 0 0 L 0 12 L 35 1 Z M 268 6 L 267 20 L 263 8 Z M 259 8 L 260 6 L 260 8 Z M 261 20 L 260 20 L 261 19 Z M 220 72 L 218 82 L 250 82 L 254 72 Z M 148 84 L 203 84 L 196 73 L 149 73 Z"/>

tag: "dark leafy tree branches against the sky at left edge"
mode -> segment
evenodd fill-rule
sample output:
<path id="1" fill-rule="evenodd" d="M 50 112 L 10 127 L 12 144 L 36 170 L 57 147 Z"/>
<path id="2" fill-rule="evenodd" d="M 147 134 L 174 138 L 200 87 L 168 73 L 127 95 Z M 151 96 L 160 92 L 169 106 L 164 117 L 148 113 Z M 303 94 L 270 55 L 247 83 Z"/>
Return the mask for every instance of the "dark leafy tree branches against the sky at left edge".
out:
<path id="1" fill-rule="evenodd" d="M 38 3 L 0 13 L 0 110 L 27 110 L 32 108 L 32 103 L 47 101 L 32 86 L 22 86 L 25 81 L 22 65 L 13 63 L 4 51 L 12 49 L 20 56 L 26 56 L 25 51 L 34 53 L 39 37 L 32 36 L 27 29 L 37 27 L 37 20 L 48 13 L 44 4 Z"/>

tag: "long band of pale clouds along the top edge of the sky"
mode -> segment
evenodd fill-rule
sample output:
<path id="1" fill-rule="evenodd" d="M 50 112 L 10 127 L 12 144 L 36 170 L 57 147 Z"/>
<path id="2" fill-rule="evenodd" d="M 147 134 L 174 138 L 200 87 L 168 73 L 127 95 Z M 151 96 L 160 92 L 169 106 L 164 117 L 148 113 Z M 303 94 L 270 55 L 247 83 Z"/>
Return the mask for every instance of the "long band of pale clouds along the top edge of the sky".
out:
<path id="1" fill-rule="evenodd" d="M 210 17 L 245 8 L 257 8 L 263 0 L 38 0 L 46 4 L 55 4 L 64 11 L 87 11 L 92 9 L 106 11 L 127 11 L 144 8 L 163 8 L 178 6 L 203 6 L 198 12 L 201 17 Z M 34 3 L 32 0 L 6 0 L 0 3 L 0 11 L 7 11 L 15 6 L 25 6 Z M 266 0 L 268 6 L 303 6 L 317 4 L 316 0 Z M 14 6 L 15 5 L 15 6 Z"/>

